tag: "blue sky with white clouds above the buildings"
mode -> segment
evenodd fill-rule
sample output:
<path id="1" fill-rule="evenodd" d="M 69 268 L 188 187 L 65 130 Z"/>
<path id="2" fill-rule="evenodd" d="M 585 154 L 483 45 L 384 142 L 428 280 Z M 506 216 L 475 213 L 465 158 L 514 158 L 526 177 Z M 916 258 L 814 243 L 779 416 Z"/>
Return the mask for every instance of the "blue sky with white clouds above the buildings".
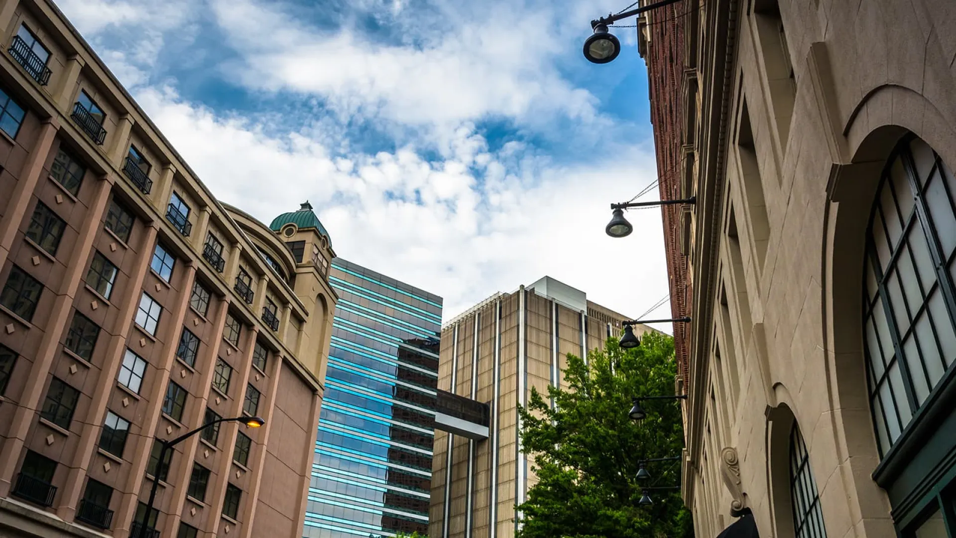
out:
<path id="1" fill-rule="evenodd" d="M 308 199 L 445 321 L 544 275 L 628 316 L 666 295 L 660 210 L 603 230 L 656 179 L 634 29 L 580 52 L 627 3 L 58 0 L 216 196 L 266 223 Z"/>

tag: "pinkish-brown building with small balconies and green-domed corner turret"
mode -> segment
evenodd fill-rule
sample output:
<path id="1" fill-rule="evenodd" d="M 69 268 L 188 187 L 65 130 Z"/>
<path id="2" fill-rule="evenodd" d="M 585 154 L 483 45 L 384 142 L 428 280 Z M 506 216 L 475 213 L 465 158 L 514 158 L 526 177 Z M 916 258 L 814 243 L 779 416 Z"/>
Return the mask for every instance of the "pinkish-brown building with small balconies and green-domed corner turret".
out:
<path id="1" fill-rule="evenodd" d="M 52 2 L 0 41 L 0 535 L 299 536 L 328 235 L 219 203 Z"/>

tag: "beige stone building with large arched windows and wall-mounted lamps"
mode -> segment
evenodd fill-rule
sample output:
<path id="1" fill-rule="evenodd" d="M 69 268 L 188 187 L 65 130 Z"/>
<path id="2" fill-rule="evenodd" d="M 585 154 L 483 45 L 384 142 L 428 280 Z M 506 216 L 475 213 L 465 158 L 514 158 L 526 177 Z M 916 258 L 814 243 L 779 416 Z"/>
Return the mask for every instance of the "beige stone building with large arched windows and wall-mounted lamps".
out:
<path id="1" fill-rule="evenodd" d="M 674 10 L 641 49 L 680 110 L 657 150 L 697 198 L 665 220 L 688 232 L 667 248 L 697 534 L 750 510 L 764 536 L 956 536 L 952 2 Z M 671 54 L 683 77 L 655 86 Z"/>

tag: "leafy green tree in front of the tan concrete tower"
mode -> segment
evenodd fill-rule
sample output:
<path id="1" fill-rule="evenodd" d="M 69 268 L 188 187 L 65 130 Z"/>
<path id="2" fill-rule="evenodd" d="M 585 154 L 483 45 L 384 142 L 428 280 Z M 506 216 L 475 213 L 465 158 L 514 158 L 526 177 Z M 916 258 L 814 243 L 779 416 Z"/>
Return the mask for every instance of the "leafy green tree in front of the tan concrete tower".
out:
<path id="1" fill-rule="evenodd" d="M 647 418 L 628 418 L 635 396 L 674 393 L 674 341 L 646 334 L 625 350 L 617 340 L 589 353 L 587 364 L 568 355 L 567 389 L 532 389 L 520 409 L 523 450 L 534 460 L 538 482 L 518 506 L 523 526 L 516 538 L 681 538 L 693 536 L 690 512 L 677 490 L 641 485 L 679 485 L 680 461 L 647 465 L 651 479 L 638 482 L 639 460 L 680 456 L 684 446 L 676 401 L 644 402 Z"/>

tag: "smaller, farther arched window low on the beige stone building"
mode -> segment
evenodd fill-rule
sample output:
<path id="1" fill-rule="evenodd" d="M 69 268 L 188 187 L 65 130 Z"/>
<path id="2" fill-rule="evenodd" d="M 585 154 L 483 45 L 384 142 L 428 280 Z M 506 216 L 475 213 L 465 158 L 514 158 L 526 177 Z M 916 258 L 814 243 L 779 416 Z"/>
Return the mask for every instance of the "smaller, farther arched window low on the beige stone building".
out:
<path id="1" fill-rule="evenodd" d="M 816 492 L 814 473 L 810 469 L 810 456 L 795 421 L 790 431 L 790 495 L 793 506 L 793 536 L 826 538 L 820 495 Z"/>

